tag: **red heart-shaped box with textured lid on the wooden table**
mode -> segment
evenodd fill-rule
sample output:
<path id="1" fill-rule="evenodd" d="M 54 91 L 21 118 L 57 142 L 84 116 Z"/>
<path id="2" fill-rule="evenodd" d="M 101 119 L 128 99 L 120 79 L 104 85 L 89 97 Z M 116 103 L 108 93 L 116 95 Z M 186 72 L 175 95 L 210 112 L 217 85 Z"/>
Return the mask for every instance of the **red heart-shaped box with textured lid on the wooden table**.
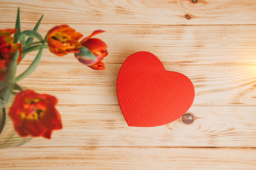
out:
<path id="1" fill-rule="evenodd" d="M 129 126 L 152 127 L 186 113 L 195 89 L 185 75 L 166 71 L 155 55 L 138 52 L 128 57 L 119 71 L 117 95 Z"/>

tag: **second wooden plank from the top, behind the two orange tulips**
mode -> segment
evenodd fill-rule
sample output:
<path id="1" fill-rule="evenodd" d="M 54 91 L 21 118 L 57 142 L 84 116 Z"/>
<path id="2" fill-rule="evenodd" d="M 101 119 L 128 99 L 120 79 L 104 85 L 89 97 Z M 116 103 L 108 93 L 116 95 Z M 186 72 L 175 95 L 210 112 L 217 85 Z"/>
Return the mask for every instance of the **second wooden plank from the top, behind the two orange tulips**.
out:
<path id="1" fill-rule="evenodd" d="M 2 18 L 0 18 L 2 19 Z M 39 18 L 38 18 L 39 19 Z M 46 19 L 44 18 L 43 21 Z M 47 20 L 46 20 L 47 21 Z M 35 22 L 36 23 L 36 22 Z M 32 30 L 35 23 L 22 23 L 22 30 Z M 14 23 L 2 23 L 0 29 L 14 28 Z M 39 33 L 44 37 L 54 24 L 41 24 Z M 256 26 L 160 26 L 152 25 L 83 25 L 70 24 L 84 37 L 95 30 L 109 46 L 107 64 L 122 64 L 131 54 L 148 51 L 162 63 L 172 64 L 255 64 Z M 27 55 L 24 62 L 34 60 L 36 53 Z M 73 63 L 74 55 L 59 57 L 44 50 L 43 63 Z"/>

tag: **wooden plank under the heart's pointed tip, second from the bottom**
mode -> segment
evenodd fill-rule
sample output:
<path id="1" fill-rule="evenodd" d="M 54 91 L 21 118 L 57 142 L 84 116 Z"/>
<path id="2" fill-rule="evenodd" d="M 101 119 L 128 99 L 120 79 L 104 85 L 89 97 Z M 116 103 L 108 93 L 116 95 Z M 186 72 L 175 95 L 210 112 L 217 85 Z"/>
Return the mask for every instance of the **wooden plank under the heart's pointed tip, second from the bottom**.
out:
<path id="1" fill-rule="evenodd" d="M 192 106 L 182 118 L 157 127 L 129 127 L 119 105 L 58 105 L 63 129 L 23 146 L 256 147 L 255 106 Z M 10 120 L 8 120 L 9 122 Z"/>

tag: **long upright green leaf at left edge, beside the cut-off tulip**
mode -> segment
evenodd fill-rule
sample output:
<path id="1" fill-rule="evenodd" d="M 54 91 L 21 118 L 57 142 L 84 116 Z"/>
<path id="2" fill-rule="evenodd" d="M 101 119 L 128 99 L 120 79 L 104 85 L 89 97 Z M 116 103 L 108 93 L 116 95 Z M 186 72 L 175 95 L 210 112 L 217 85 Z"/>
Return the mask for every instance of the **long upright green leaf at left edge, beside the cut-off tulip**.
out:
<path id="1" fill-rule="evenodd" d="M 2 99 L 5 102 L 5 104 L 8 104 L 12 97 L 12 91 L 14 88 L 14 77 L 15 77 L 16 68 L 17 68 L 18 56 L 19 56 L 19 51 L 17 51 L 15 53 L 14 58 L 13 58 L 11 64 L 9 65 L 9 68 L 12 70 L 12 74 L 10 76 L 10 81 L 7 83 L 7 86 L 0 91 L 0 99 Z"/>

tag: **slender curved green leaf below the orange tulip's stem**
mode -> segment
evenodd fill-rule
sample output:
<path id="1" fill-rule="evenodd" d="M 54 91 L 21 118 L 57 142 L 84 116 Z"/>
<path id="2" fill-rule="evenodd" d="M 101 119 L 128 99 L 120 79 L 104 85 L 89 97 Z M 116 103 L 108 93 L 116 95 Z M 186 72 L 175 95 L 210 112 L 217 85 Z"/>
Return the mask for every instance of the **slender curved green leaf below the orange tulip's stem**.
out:
<path id="1" fill-rule="evenodd" d="M 15 78 L 15 82 L 21 81 L 22 79 L 28 77 L 31 73 L 33 73 L 36 70 L 41 60 L 43 49 L 44 49 L 43 47 L 40 48 L 35 60 L 31 63 L 31 65 L 27 68 L 27 70 L 25 70 L 21 75 Z"/>

